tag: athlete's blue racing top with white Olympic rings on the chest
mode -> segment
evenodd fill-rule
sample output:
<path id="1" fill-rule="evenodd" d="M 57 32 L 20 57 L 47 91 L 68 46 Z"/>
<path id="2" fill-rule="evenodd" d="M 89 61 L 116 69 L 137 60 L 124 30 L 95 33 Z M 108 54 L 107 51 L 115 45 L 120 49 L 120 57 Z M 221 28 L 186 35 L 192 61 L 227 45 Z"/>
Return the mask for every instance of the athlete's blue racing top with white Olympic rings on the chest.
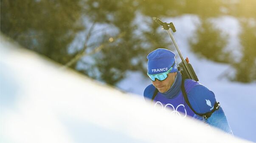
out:
<path id="1" fill-rule="evenodd" d="M 217 127 L 225 132 L 233 134 L 228 121 L 226 119 L 225 113 L 221 107 L 218 108 L 211 117 L 208 119 L 203 119 L 201 116 L 197 116 L 187 105 L 182 91 L 181 91 L 181 74 L 177 72 L 176 79 L 172 87 L 165 93 L 160 93 L 155 96 L 154 102 L 155 106 L 160 105 L 164 109 L 171 108 L 177 115 L 181 116 L 180 113 L 183 113 L 182 117 L 191 116 L 192 118 L 204 120 L 207 124 Z M 197 113 L 207 113 L 213 109 L 214 104 L 216 103 L 215 95 L 212 91 L 207 89 L 202 84 L 199 84 L 197 81 L 186 79 L 185 90 L 187 93 L 188 101 L 191 104 L 191 107 Z M 155 86 L 150 84 L 144 90 L 145 100 L 151 100 L 155 92 Z M 179 113 L 180 112 L 180 113 Z"/>

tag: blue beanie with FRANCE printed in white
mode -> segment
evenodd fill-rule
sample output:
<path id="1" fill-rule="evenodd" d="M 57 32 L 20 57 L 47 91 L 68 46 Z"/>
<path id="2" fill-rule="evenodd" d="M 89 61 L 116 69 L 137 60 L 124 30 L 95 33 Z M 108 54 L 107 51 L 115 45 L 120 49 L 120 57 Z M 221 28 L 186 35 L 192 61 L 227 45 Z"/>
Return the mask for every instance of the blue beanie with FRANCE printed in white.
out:
<path id="1" fill-rule="evenodd" d="M 151 75 L 164 73 L 169 70 L 172 65 L 170 73 L 177 72 L 177 65 L 175 61 L 175 54 L 167 49 L 158 48 L 147 56 L 148 59 L 148 73 Z"/>

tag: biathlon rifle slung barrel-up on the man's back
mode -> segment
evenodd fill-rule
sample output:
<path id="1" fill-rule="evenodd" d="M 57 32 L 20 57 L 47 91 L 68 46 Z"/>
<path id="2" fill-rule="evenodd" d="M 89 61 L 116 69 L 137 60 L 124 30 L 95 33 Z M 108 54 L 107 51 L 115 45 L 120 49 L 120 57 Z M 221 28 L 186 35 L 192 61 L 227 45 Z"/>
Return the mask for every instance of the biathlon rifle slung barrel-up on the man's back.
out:
<path id="1" fill-rule="evenodd" d="M 186 62 L 186 61 L 184 60 L 184 58 L 183 58 L 183 56 L 182 56 L 182 54 L 181 54 L 181 52 L 180 52 L 180 49 L 179 49 L 179 47 L 178 47 L 176 41 L 174 40 L 174 37 L 173 37 L 173 35 L 172 35 L 172 32 L 170 31 L 170 28 L 171 28 L 173 32 L 176 32 L 176 29 L 175 29 L 175 27 L 174 27 L 174 24 L 173 24 L 172 22 L 169 23 L 169 24 L 166 23 L 166 22 L 162 22 L 162 21 L 161 21 L 160 19 L 158 19 L 157 17 L 152 17 L 152 19 L 153 19 L 156 23 L 160 24 L 160 25 L 163 27 L 164 30 L 167 30 L 169 36 L 170 36 L 171 39 L 172 39 L 172 42 L 174 43 L 175 48 L 177 49 L 177 51 L 178 51 L 178 53 L 179 53 L 179 55 L 180 55 L 180 58 L 181 58 L 181 60 L 182 60 L 182 62 L 183 62 L 183 65 L 184 65 L 184 67 L 185 67 L 185 70 L 186 70 L 187 73 L 188 73 L 189 78 L 191 78 L 191 79 L 193 79 L 193 80 L 195 80 L 195 81 L 198 81 L 198 79 L 196 79 L 196 78 L 193 76 L 193 74 L 191 73 L 191 71 L 189 70 L 189 68 L 188 68 L 188 62 Z"/>

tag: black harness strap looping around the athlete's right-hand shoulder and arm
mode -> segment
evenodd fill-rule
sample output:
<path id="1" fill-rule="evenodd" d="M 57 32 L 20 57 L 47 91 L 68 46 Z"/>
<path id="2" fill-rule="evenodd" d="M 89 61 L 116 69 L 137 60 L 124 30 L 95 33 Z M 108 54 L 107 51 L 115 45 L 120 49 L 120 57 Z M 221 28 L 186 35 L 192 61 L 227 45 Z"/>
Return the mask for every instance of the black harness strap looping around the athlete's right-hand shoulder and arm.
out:
<path id="1" fill-rule="evenodd" d="M 205 119 L 209 118 L 209 117 L 211 116 L 211 114 L 214 113 L 214 111 L 216 111 L 216 110 L 219 108 L 219 103 L 216 102 L 216 103 L 214 104 L 214 108 L 213 108 L 212 111 L 210 111 L 210 112 L 203 113 L 203 114 L 202 114 L 202 113 L 197 113 L 197 112 L 192 108 L 191 104 L 190 104 L 189 101 L 188 101 L 188 96 L 187 96 L 187 94 L 186 94 L 185 86 L 184 86 L 185 79 L 186 79 L 186 78 L 182 77 L 181 90 L 182 90 L 182 94 L 183 94 L 183 97 L 184 97 L 186 103 L 187 103 L 188 106 L 191 108 L 191 110 L 192 110 L 195 114 L 197 114 L 198 116 L 202 116 L 202 117 L 204 117 Z"/>

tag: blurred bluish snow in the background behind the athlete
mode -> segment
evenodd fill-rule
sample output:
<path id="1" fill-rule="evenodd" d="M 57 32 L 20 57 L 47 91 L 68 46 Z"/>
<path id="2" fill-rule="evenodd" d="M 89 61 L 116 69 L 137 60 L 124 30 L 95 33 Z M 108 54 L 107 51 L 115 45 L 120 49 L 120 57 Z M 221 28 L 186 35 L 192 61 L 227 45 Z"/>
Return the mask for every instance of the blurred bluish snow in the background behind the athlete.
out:
<path id="1" fill-rule="evenodd" d="M 218 28 L 222 29 L 222 31 L 230 36 L 227 49 L 232 49 L 233 54 L 237 57 L 241 56 L 239 54 L 241 46 L 237 40 L 237 36 L 240 32 L 238 21 L 230 16 L 222 16 L 212 20 L 216 22 Z M 196 30 L 195 24 L 199 23 L 197 16 L 184 15 L 171 19 L 163 19 L 163 21 L 174 23 L 177 32 L 173 35 L 183 57 L 189 58 L 200 83 L 215 93 L 217 101 L 220 102 L 225 111 L 234 135 L 256 142 L 256 124 L 254 124 L 256 121 L 256 83 L 241 84 L 238 82 L 230 82 L 222 77 L 222 74 L 226 71 L 233 72 L 230 66 L 211 62 L 206 59 L 199 59 L 189 51 L 188 38 L 191 37 L 194 30 Z M 162 32 L 169 38 L 166 31 Z M 169 40 L 171 42 L 170 38 Z M 176 53 L 176 60 L 179 63 L 180 57 L 177 51 L 175 50 L 174 53 Z M 143 96 L 144 89 L 151 84 L 150 79 L 144 77 L 140 72 L 128 71 L 126 76 L 127 78 L 119 82 L 117 86 L 124 91 Z"/>

